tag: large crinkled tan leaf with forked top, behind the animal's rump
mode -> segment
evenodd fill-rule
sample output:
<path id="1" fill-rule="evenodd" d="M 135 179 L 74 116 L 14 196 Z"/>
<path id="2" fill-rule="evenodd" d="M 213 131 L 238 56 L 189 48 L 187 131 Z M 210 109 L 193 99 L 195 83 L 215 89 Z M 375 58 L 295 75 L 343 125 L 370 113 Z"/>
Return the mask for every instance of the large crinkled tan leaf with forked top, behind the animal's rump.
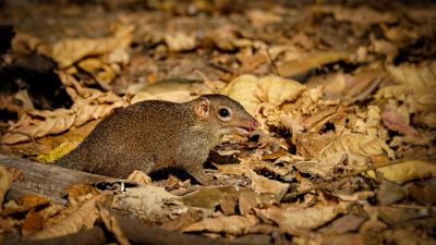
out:
<path id="1" fill-rule="evenodd" d="M 50 134 L 59 134 L 72 126 L 100 119 L 114 108 L 128 106 L 126 97 L 113 93 L 104 94 L 97 89 L 82 87 L 72 76 L 59 73 L 74 105 L 70 109 L 27 111 L 13 123 L 2 137 L 3 144 L 28 142 Z"/>

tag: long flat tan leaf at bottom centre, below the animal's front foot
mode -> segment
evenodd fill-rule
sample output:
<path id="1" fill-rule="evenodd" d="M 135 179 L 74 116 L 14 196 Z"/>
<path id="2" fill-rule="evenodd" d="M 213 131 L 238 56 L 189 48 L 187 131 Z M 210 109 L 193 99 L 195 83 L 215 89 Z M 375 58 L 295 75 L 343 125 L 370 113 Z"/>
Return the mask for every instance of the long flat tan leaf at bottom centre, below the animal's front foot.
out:
<path id="1" fill-rule="evenodd" d="M 209 218 L 193 223 L 183 229 L 183 232 L 201 232 L 208 231 L 215 233 L 226 233 L 230 235 L 243 235 L 250 226 L 258 223 L 258 219 L 254 216 L 225 216 Z"/>

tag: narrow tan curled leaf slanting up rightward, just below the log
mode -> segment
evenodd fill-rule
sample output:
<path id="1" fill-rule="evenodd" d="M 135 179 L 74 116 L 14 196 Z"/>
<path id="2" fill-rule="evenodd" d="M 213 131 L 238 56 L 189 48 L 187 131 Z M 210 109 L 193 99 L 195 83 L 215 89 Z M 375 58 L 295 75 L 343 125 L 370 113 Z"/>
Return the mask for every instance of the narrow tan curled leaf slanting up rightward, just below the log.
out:
<path id="1" fill-rule="evenodd" d="M 86 201 L 75 212 L 63 219 L 61 222 L 46 228 L 43 231 L 35 233 L 29 238 L 44 240 L 51 238 L 78 232 L 84 228 L 90 228 L 99 217 L 99 211 L 96 207 L 98 201 L 105 201 L 109 197 L 108 194 L 100 194 Z"/>

